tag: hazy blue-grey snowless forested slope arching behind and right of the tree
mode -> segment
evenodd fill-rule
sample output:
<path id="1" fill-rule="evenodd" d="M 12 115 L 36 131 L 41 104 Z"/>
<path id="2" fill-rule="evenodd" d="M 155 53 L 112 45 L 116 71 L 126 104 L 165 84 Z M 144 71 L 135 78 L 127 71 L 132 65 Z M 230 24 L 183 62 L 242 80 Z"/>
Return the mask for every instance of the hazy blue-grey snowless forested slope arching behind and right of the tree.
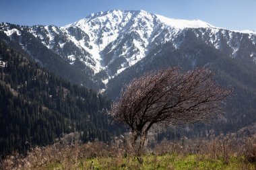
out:
<path id="1" fill-rule="evenodd" d="M 183 71 L 206 67 L 214 71 L 218 83 L 234 88 L 226 103 L 224 118 L 207 128 L 214 129 L 216 133 L 236 132 L 239 128 L 256 122 L 256 67 L 251 63 L 251 58 L 231 58 L 213 46 L 202 44 L 191 37 L 184 43 L 179 49 L 174 49 L 171 43 L 162 45 L 160 52 L 153 51 L 148 57 L 111 79 L 105 93 L 112 99 L 119 97 L 125 84 L 148 71 L 171 66 L 179 66 Z M 194 129 L 186 135 L 195 136 L 201 134 L 201 130 L 202 128 Z"/>

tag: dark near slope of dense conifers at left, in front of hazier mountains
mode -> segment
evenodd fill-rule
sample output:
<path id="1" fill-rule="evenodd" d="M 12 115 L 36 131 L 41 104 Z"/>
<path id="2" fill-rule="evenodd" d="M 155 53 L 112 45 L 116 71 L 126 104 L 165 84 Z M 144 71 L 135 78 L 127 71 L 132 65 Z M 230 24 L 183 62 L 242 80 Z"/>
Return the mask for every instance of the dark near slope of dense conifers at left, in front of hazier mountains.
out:
<path id="1" fill-rule="evenodd" d="M 110 140 L 110 101 L 71 85 L 0 41 L 0 156 L 45 146 L 70 132 L 82 141 Z"/>

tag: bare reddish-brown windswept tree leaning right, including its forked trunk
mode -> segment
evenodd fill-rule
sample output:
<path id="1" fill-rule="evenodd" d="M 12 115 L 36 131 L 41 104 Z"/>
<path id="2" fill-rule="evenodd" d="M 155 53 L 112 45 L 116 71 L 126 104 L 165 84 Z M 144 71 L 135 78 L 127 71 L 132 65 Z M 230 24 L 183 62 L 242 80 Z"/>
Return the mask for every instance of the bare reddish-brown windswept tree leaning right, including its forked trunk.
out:
<path id="1" fill-rule="evenodd" d="M 195 69 L 181 73 L 177 67 L 155 71 L 133 79 L 113 103 L 110 116 L 129 126 L 131 145 L 139 140 L 140 155 L 153 125 L 179 125 L 209 120 L 222 110 L 220 103 L 230 95 L 212 79 L 213 73 Z"/>

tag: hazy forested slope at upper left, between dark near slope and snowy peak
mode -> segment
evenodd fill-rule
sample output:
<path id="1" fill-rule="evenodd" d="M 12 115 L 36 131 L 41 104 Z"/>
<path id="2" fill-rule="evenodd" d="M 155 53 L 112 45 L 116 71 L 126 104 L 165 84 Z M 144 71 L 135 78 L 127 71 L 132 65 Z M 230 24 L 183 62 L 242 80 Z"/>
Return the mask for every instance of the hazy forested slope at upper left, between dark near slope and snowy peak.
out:
<path id="1" fill-rule="evenodd" d="M 80 71 L 77 67 L 69 65 L 68 60 L 47 48 L 38 37 L 31 34 L 28 26 L 1 24 L 0 30 L 1 40 L 26 53 L 29 58 L 38 62 L 42 67 L 73 83 L 86 85 L 90 88 L 95 87 L 96 83 L 90 77 L 90 70 Z M 77 61 L 75 65 L 79 66 L 81 63 Z M 83 65 L 82 68 L 84 67 L 86 66 Z"/>

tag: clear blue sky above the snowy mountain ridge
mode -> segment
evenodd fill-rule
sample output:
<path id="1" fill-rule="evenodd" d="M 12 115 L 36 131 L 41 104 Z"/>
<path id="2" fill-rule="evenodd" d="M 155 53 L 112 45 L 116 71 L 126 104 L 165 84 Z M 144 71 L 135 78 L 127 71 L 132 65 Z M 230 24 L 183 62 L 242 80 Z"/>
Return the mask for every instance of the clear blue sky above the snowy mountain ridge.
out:
<path id="1" fill-rule="evenodd" d="M 256 0 L 0 0 L 0 22 L 65 26 L 108 9 L 143 9 L 229 30 L 256 31 Z"/>

